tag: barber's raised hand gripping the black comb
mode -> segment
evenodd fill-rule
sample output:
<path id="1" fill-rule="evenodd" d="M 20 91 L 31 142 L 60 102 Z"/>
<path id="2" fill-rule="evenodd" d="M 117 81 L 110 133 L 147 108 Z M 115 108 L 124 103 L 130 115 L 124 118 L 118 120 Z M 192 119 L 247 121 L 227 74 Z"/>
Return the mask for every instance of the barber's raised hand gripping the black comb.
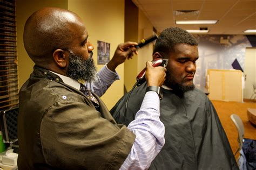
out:
<path id="1" fill-rule="evenodd" d="M 123 44 L 119 44 L 116 52 L 114 52 L 113 58 L 107 63 L 107 68 L 114 71 L 118 65 L 122 64 L 126 58 L 132 58 L 133 54 L 138 54 L 137 48 L 134 46 L 138 45 L 137 42 L 125 42 Z"/>

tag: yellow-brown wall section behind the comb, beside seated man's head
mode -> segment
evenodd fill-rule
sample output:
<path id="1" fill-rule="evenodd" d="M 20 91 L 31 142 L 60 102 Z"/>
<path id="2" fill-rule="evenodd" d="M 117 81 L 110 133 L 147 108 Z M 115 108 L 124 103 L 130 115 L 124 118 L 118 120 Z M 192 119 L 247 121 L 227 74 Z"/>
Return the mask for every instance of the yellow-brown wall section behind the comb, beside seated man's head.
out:
<path id="1" fill-rule="evenodd" d="M 153 25 L 130 0 L 125 0 L 125 41 L 139 42 L 142 39 L 151 37 L 153 34 Z M 134 55 L 132 60 L 125 62 L 125 88 L 130 91 L 136 76 L 146 66 L 146 61 L 152 60 L 153 44 L 150 43 L 143 48 L 138 49 L 138 55 Z"/>

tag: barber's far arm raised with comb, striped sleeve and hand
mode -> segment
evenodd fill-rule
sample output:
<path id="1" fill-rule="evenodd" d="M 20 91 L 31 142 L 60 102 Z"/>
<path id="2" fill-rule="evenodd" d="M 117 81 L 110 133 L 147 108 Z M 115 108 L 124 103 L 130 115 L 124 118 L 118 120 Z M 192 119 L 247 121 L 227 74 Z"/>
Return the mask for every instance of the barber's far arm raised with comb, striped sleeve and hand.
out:
<path id="1" fill-rule="evenodd" d="M 136 45 L 137 42 L 130 41 L 119 44 L 109 63 L 96 74 L 95 81 L 87 82 L 85 86 L 98 96 L 102 96 L 114 81 L 120 79 L 115 70 L 117 66 L 122 64 L 126 59 L 132 58 L 134 53 L 138 53 L 137 48 L 134 47 Z"/>

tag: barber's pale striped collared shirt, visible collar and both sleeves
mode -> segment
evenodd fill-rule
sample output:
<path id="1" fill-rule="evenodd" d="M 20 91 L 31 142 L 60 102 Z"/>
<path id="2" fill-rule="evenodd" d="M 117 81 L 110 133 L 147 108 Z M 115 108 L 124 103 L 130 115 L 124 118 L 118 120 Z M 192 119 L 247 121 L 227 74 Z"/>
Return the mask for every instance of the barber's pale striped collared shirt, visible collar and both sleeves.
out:
<path id="1" fill-rule="evenodd" d="M 54 73 L 54 72 L 53 72 Z M 57 73 L 55 73 L 57 74 Z M 68 84 L 79 90 L 80 84 L 76 80 L 57 74 Z M 86 82 L 85 86 L 98 96 L 102 96 L 107 88 L 119 80 L 117 73 L 112 72 L 105 65 L 96 75 L 95 81 Z M 132 145 L 131 152 L 123 162 L 120 169 L 147 169 L 151 162 L 164 146 L 164 124 L 160 122 L 159 97 L 154 91 L 145 94 L 142 106 L 137 112 L 134 121 L 127 127 L 136 134 L 136 139 Z"/>

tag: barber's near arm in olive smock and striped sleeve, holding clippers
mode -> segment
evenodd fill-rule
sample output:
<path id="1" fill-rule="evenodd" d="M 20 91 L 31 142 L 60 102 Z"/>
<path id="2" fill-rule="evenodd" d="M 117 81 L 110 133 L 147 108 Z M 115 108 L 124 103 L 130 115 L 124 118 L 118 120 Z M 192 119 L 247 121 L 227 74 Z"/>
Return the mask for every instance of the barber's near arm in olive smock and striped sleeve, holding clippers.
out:
<path id="1" fill-rule="evenodd" d="M 156 77 L 147 78 L 148 82 L 163 78 L 163 70 L 163 67 L 150 68 Z M 147 74 L 149 72 L 146 77 Z M 149 86 L 160 85 L 149 83 Z M 127 129 L 116 125 L 105 107 L 98 112 L 83 95 L 59 88 L 63 88 L 68 97 L 60 96 L 45 111 L 40 128 L 40 143 L 47 164 L 56 169 L 145 169 L 150 166 L 164 145 L 164 125 L 159 121 L 156 92 L 146 93 L 136 119 Z"/>

